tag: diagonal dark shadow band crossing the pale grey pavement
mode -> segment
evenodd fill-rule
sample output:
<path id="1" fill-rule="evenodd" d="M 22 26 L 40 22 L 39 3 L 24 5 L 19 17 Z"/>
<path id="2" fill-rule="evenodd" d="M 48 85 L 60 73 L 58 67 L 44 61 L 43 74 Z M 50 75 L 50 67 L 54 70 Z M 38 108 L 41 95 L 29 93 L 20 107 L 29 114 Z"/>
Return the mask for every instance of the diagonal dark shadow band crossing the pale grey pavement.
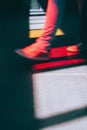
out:
<path id="1" fill-rule="evenodd" d="M 62 123 L 67 123 L 69 121 L 76 120 L 84 116 L 87 116 L 87 107 L 62 113 L 56 116 L 49 117 L 47 119 L 36 119 L 37 130 L 45 127 L 50 127 L 53 125 L 60 125 Z"/>

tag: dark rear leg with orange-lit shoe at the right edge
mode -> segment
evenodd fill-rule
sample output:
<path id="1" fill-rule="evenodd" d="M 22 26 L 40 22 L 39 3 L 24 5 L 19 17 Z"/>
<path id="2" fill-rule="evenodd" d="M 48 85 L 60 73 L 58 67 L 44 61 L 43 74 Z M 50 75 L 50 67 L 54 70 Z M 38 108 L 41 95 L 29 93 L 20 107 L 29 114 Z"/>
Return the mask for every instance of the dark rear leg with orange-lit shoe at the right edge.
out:
<path id="1" fill-rule="evenodd" d="M 70 52 L 87 51 L 87 0 L 78 0 L 80 10 L 80 43 L 67 48 Z"/>

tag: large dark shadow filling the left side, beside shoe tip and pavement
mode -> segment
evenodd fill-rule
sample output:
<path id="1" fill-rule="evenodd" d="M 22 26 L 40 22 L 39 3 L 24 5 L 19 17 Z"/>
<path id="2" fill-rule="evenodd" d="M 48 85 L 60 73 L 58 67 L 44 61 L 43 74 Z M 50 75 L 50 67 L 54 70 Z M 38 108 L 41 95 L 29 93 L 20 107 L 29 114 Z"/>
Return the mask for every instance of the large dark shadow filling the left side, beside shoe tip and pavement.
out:
<path id="1" fill-rule="evenodd" d="M 0 130 L 34 130 L 32 67 L 14 52 L 29 42 L 29 5 L 0 6 Z"/>

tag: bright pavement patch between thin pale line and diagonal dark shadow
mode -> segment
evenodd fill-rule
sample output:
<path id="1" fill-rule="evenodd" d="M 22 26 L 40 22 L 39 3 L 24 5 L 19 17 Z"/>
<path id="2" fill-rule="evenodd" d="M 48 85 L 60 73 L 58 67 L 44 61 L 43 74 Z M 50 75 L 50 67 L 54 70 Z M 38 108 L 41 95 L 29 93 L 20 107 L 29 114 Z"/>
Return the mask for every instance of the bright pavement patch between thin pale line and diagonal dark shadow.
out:
<path id="1" fill-rule="evenodd" d="M 75 86 L 75 81 L 78 86 Z M 36 117 L 44 119 L 85 106 L 87 96 L 83 86 L 86 83 L 81 75 L 33 74 Z"/>

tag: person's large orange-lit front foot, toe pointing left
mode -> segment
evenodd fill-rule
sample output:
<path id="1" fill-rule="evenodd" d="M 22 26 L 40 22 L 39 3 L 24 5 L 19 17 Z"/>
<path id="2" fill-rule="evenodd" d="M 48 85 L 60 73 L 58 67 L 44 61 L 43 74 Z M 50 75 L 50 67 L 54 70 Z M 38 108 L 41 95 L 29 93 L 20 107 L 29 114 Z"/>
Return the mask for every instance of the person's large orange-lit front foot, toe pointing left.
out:
<path id="1" fill-rule="evenodd" d="M 16 49 L 15 52 L 20 56 L 32 60 L 49 60 L 49 51 L 46 50 L 46 45 L 33 43 L 23 49 Z"/>

